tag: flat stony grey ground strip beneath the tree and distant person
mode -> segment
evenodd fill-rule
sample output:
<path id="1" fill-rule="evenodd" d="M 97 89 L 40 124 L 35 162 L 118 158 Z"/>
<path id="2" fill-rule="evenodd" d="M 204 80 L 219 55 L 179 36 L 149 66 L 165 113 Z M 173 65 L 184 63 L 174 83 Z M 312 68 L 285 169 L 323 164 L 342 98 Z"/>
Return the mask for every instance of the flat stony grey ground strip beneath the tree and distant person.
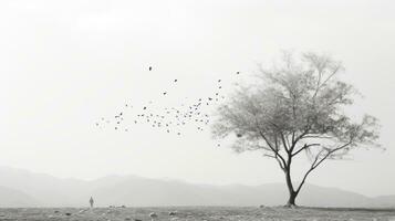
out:
<path id="1" fill-rule="evenodd" d="M 170 211 L 177 211 L 169 215 Z M 152 220 L 293 220 L 293 221 L 345 221 L 345 220 L 394 220 L 395 209 L 324 209 L 324 208 L 229 208 L 229 207 L 188 207 L 188 208 L 19 208 L 0 209 L 1 221 L 29 220 L 86 220 L 126 221 Z"/>

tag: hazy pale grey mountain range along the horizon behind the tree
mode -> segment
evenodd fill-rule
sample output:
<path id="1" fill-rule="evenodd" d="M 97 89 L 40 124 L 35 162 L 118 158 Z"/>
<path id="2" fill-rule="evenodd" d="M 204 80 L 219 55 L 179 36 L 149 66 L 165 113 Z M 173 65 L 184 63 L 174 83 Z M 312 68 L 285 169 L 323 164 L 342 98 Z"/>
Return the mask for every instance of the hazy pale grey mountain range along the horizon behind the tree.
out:
<path id="1" fill-rule="evenodd" d="M 288 197 L 283 183 L 211 186 L 136 176 L 108 176 L 84 181 L 4 167 L 0 167 L 0 207 L 86 207 L 91 196 L 98 207 L 256 207 L 283 204 Z M 368 198 L 337 188 L 305 185 L 298 203 L 311 207 L 395 207 L 395 196 Z"/>

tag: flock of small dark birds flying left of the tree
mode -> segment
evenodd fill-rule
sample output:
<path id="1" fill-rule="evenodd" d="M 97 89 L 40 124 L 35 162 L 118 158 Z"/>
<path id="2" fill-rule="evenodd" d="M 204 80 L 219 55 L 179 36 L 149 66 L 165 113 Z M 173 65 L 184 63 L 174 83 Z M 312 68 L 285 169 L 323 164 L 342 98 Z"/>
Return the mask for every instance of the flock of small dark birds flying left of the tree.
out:
<path id="1" fill-rule="evenodd" d="M 148 67 L 148 71 L 153 71 L 153 66 Z M 236 72 L 239 75 L 240 72 Z M 129 126 L 124 125 L 126 116 L 128 117 L 127 110 L 137 109 L 137 114 L 133 116 L 132 124 L 148 124 L 153 128 L 164 129 L 166 133 L 175 133 L 178 136 L 181 135 L 183 126 L 193 124 L 195 128 L 202 131 L 207 125 L 210 123 L 210 116 L 205 110 L 220 101 L 224 101 L 226 96 L 221 93 L 222 91 L 222 80 L 216 80 L 216 91 L 211 96 L 200 97 L 193 101 L 190 104 L 181 103 L 177 107 L 164 107 L 158 112 L 157 108 L 152 108 L 153 101 L 149 101 L 147 105 L 136 107 L 132 104 L 124 104 L 122 112 L 116 115 L 105 118 L 102 117 L 95 123 L 97 127 L 112 127 L 115 130 L 129 131 Z M 174 84 L 178 84 L 178 80 L 173 81 Z M 162 92 L 162 96 L 168 96 L 168 92 Z M 220 144 L 218 144 L 220 146 Z"/>

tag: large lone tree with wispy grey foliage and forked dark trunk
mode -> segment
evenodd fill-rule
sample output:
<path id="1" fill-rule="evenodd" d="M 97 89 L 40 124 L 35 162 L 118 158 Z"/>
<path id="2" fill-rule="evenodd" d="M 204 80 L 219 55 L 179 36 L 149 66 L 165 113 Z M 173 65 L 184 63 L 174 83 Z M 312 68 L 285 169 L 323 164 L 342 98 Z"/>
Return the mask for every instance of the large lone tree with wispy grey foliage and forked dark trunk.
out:
<path id="1" fill-rule="evenodd" d="M 295 206 L 308 176 L 323 161 L 342 159 L 357 147 L 378 146 L 376 118 L 365 115 L 355 123 L 344 114 L 356 91 L 336 80 L 341 71 L 341 63 L 329 56 L 305 53 L 295 61 L 285 54 L 279 66 L 260 67 L 257 84 L 238 88 L 218 108 L 214 136 L 236 135 L 235 150 L 262 150 L 277 160 L 285 175 L 288 207 Z M 302 152 L 311 166 L 295 185 L 292 161 Z"/>

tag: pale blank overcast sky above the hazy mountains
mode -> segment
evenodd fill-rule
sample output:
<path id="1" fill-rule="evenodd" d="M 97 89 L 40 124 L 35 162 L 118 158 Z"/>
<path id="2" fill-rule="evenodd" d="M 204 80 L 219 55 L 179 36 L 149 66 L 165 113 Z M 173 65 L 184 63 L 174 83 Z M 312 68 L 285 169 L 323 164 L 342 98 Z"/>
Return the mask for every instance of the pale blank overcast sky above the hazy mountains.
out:
<path id="1" fill-rule="evenodd" d="M 344 80 L 364 95 L 353 114 L 378 117 L 387 151 L 326 162 L 308 181 L 395 194 L 394 11 L 391 0 L 3 0 L 0 166 L 82 179 L 131 173 L 283 182 L 276 161 L 218 148 L 208 130 L 187 127 L 176 136 L 144 125 L 123 133 L 94 124 L 126 102 L 163 107 L 207 95 L 217 78 L 231 91 L 280 50 L 315 51 L 344 63 Z M 164 90 L 168 98 L 159 99 Z"/>

